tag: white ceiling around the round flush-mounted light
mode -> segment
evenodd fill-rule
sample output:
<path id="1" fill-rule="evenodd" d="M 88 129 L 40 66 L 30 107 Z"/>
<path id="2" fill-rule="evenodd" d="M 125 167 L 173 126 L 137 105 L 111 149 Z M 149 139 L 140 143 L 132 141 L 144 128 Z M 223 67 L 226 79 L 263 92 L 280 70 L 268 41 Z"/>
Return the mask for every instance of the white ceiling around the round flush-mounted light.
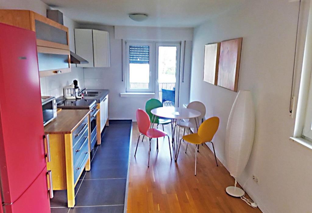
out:
<path id="1" fill-rule="evenodd" d="M 114 26 L 195 27 L 245 0 L 41 0 L 78 22 Z M 135 22 L 129 13 L 146 13 Z"/>

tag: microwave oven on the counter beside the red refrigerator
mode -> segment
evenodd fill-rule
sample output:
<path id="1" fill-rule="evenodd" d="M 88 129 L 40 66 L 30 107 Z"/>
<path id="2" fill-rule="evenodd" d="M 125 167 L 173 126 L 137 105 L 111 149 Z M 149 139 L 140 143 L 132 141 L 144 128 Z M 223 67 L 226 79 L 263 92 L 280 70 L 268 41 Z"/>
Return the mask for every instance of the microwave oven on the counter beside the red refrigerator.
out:
<path id="1" fill-rule="evenodd" d="M 42 113 L 43 113 L 43 126 L 46 126 L 54 118 L 56 118 L 56 100 L 55 97 L 41 96 Z"/>

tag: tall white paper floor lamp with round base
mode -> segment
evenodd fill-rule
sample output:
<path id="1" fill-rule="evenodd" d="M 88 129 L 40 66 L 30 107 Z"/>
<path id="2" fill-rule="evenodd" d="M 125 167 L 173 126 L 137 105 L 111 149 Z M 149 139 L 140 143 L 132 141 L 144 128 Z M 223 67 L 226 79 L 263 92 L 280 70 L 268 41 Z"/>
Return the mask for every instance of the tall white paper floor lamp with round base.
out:
<path id="1" fill-rule="evenodd" d="M 235 178 L 235 185 L 226 188 L 227 194 L 235 197 L 244 195 L 244 191 L 236 187 L 236 178 L 244 171 L 248 162 L 255 134 L 255 111 L 251 92 L 241 90 L 232 106 L 227 121 L 225 138 L 225 160 L 230 175 Z"/>

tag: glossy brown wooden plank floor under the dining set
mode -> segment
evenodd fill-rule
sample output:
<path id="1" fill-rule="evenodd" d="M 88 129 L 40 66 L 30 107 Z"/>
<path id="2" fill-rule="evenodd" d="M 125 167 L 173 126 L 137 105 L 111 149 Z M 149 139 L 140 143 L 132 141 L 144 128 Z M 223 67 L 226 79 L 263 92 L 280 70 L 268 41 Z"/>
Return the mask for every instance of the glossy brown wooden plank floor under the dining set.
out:
<path id="1" fill-rule="evenodd" d="M 165 131 L 170 132 L 167 125 Z M 139 136 L 137 124 L 133 123 L 128 213 L 138 212 L 261 212 L 253 209 L 239 198 L 228 196 L 227 186 L 234 179 L 207 146 L 200 146 L 197 154 L 197 174 L 194 176 L 195 146 L 182 142 L 178 162 L 170 161 L 168 138 L 152 140 L 149 168 L 148 139 L 139 141 L 136 158 L 134 152 Z M 141 137 L 142 138 L 142 137 Z M 171 140 L 171 138 L 170 138 Z M 171 142 L 170 142 L 171 144 Z M 172 151 L 172 146 L 171 146 Z M 173 151 L 172 151 L 173 155 Z"/>

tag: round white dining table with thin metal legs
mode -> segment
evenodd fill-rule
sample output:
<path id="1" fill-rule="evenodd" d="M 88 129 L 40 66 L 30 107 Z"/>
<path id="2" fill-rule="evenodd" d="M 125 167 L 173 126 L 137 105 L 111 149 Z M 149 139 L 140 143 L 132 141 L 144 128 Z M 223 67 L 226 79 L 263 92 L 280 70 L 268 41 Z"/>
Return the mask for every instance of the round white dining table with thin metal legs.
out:
<path id="1" fill-rule="evenodd" d="M 172 135 L 174 161 L 177 161 L 181 146 L 181 140 L 179 141 L 181 119 L 194 118 L 197 124 L 196 118 L 199 117 L 201 113 L 197 110 L 182 107 L 158 107 L 152 109 L 151 113 L 153 114 L 152 121 L 153 119 L 155 120 L 157 116 L 171 119 L 171 133 L 172 133 L 171 135 Z M 179 131 L 177 129 L 177 126 L 179 126 Z"/>

